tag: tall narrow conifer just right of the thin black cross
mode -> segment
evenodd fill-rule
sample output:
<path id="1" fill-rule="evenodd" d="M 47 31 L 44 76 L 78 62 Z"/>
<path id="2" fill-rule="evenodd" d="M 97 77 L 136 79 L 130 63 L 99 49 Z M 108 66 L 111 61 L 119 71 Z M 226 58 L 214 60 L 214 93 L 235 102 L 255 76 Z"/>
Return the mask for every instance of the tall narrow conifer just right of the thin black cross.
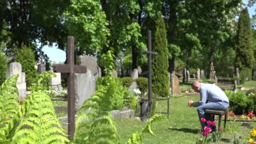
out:
<path id="1" fill-rule="evenodd" d="M 157 17 L 153 51 L 157 52 L 157 55 L 152 58 L 152 91 L 166 97 L 169 94 L 168 48 L 162 13 Z"/>

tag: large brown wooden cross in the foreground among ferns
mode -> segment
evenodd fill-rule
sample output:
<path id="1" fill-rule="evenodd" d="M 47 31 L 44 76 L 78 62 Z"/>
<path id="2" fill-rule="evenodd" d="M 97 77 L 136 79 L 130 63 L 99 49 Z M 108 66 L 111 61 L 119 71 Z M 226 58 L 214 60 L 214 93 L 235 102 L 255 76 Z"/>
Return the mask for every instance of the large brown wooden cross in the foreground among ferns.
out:
<path id="1" fill-rule="evenodd" d="M 55 64 L 54 72 L 68 73 L 67 78 L 67 99 L 68 99 L 68 135 L 72 140 L 75 133 L 75 73 L 86 73 L 85 66 L 75 65 L 74 59 L 74 37 L 67 37 L 67 64 Z"/>

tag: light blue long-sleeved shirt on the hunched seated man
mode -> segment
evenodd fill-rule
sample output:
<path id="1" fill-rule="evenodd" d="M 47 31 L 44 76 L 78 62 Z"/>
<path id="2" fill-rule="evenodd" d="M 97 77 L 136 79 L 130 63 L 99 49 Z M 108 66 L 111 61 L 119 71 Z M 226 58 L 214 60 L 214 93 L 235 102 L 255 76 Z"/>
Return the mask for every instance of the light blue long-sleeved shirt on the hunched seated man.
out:
<path id="1" fill-rule="evenodd" d="M 209 83 L 201 83 L 200 86 L 200 101 L 194 102 L 192 104 L 193 107 L 198 107 L 200 105 L 205 104 L 206 102 L 227 102 L 229 103 L 229 99 L 227 98 L 224 91 L 221 90 L 216 85 L 212 85 Z"/>

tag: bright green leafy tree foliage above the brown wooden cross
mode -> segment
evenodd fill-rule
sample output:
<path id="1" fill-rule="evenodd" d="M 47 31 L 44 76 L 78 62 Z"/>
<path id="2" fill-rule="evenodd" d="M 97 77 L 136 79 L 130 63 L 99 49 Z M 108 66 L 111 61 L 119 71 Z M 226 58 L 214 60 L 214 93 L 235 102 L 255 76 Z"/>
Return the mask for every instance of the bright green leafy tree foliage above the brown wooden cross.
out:
<path id="1" fill-rule="evenodd" d="M 97 0 L 71 0 L 64 13 L 69 33 L 75 37 L 77 55 L 95 55 L 103 46 L 109 45 L 110 35 L 106 15 Z"/>

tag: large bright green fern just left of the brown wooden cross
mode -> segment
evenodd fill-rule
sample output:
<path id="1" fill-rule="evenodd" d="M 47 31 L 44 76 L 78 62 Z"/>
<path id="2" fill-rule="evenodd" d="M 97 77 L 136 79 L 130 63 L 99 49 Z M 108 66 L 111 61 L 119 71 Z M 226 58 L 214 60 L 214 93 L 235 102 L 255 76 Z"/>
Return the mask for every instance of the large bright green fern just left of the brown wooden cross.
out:
<path id="1" fill-rule="evenodd" d="M 24 101 L 26 118 L 17 127 L 13 142 L 49 144 L 69 142 L 57 119 L 50 97 L 32 91 Z M 27 139 L 27 140 L 26 140 Z"/>

